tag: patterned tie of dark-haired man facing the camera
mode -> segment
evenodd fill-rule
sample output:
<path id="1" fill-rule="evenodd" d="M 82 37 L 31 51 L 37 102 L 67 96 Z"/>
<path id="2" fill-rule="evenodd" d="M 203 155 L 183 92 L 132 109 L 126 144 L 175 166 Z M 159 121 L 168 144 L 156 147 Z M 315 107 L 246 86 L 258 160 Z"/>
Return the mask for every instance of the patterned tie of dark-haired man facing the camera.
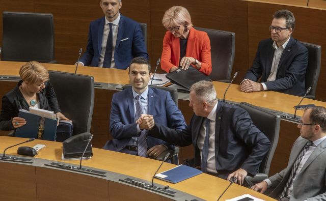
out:
<path id="1" fill-rule="evenodd" d="M 143 106 L 141 103 L 141 95 L 137 95 L 136 96 L 136 119 L 138 120 L 139 117 L 141 116 L 141 114 L 143 113 Z M 146 130 L 142 130 L 140 136 L 137 138 L 137 147 L 138 147 L 138 156 L 146 156 L 146 152 L 147 152 L 147 140 L 146 140 Z"/>

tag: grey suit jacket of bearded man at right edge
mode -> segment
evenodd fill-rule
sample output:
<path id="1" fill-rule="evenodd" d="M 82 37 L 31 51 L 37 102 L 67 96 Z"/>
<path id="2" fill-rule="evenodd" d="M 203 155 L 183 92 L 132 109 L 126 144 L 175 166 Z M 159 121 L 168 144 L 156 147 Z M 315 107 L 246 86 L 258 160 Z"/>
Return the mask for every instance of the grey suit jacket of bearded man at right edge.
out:
<path id="1" fill-rule="evenodd" d="M 307 139 L 298 137 L 292 147 L 287 167 L 268 178 L 274 190 L 269 194 L 271 197 L 278 197 L 288 181 L 291 168 Z M 304 164 L 300 173 L 293 183 L 293 191 L 290 201 L 326 200 L 326 139 L 323 140 Z"/>

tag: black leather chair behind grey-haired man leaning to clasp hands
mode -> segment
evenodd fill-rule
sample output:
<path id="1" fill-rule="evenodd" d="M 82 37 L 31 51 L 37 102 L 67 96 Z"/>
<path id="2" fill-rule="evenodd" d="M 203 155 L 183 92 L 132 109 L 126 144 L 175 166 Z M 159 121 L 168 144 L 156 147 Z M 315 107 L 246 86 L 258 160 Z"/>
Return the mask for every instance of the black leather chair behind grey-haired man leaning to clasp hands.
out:
<path id="1" fill-rule="evenodd" d="M 281 116 L 246 102 L 240 103 L 240 107 L 249 113 L 254 125 L 256 125 L 270 141 L 270 149 L 261 162 L 258 171 L 259 173 L 268 175 L 270 163 L 279 141 Z"/>

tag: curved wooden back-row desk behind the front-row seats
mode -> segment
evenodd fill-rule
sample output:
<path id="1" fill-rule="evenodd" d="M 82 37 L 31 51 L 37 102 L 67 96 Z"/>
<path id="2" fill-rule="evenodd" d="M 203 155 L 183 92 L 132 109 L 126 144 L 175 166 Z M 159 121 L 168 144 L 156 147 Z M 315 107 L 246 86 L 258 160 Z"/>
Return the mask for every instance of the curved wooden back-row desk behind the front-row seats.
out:
<path id="1" fill-rule="evenodd" d="M 23 63 L 20 62 L 0 62 L 0 76 L 18 76 L 19 67 Z M 74 72 L 75 66 L 72 65 L 58 65 L 58 64 L 44 64 L 48 70 L 57 70 L 64 72 Z M 78 67 L 77 73 L 94 76 L 95 82 L 100 83 L 114 83 L 126 84 L 129 83 L 128 72 L 126 70 L 117 69 L 103 69 L 93 67 Z M 2 81 L 0 87 L 0 96 L 2 97 L 8 91 L 13 89 L 17 83 L 12 81 Z M 213 82 L 218 98 L 223 99 L 224 92 L 227 88 L 227 83 Z M 94 134 L 93 146 L 101 148 L 104 143 L 111 139 L 108 125 L 110 122 L 111 100 L 114 93 L 117 92 L 115 86 L 106 86 L 106 88 L 95 89 L 95 104 L 92 119 L 91 132 Z M 279 111 L 280 113 L 290 114 L 293 116 L 293 106 L 298 104 L 301 97 L 291 96 L 278 92 L 255 92 L 255 93 L 242 93 L 239 90 L 239 85 L 232 84 L 227 95 L 226 100 L 234 103 L 248 102 L 253 105 L 264 107 L 268 110 Z M 315 104 L 326 107 L 326 103 L 311 99 L 305 99 L 302 104 Z M 179 108 L 189 124 L 193 115 L 193 110 L 189 107 L 189 101 L 179 99 Z M 64 113 L 64 111 L 63 111 Z M 302 116 L 303 110 L 297 111 L 297 116 Z M 7 132 L 0 132 L 6 135 Z M 296 124 L 283 120 L 281 122 L 280 137 L 278 148 L 271 163 L 269 175 L 273 175 L 278 171 L 285 168 L 292 143 L 299 135 Z M 182 161 L 186 158 L 194 156 L 193 147 L 188 146 L 180 149 L 179 160 Z"/>

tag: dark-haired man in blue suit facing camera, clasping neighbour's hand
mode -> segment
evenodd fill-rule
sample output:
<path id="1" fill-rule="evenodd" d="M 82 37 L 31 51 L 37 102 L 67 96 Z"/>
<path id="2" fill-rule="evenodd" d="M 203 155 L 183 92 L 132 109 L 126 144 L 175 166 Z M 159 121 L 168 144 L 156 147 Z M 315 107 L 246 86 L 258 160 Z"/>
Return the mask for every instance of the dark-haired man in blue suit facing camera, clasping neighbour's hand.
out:
<path id="1" fill-rule="evenodd" d="M 150 64 L 145 58 L 134 58 L 129 67 L 132 88 L 115 93 L 112 98 L 110 132 L 113 140 L 103 149 L 139 156 L 157 157 L 166 149 L 174 149 L 168 142 L 147 137 L 147 129 L 155 122 L 173 128 L 185 129 L 181 111 L 169 92 L 149 88 Z M 137 122 L 140 116 L 142 123 Z"/>

